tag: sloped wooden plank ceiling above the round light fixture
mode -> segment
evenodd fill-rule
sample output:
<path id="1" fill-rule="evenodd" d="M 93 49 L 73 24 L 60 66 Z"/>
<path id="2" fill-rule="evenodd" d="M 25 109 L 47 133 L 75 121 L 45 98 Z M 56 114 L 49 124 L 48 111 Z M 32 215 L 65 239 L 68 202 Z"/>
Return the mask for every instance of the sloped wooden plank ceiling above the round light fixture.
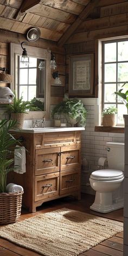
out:
<path id="1" fill-rule="evenodd" d="M 41 38 L 66 43 L 82 23 L 99 18 L 100 9 L 124 0 L 0 0 L 0 28 L 26 34 L 38 27 Z"/>

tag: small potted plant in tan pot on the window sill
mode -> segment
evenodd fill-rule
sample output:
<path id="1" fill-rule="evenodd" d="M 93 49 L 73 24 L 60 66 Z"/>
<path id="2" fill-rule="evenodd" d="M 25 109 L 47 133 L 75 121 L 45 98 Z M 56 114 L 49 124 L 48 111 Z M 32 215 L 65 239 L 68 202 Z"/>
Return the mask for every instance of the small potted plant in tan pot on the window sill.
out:
<path id="1" fill-rule="evenodd" d="M 104 108 L 103 110 L 103 126 L 115 126 L 117 108 L 114 106 Z"/>

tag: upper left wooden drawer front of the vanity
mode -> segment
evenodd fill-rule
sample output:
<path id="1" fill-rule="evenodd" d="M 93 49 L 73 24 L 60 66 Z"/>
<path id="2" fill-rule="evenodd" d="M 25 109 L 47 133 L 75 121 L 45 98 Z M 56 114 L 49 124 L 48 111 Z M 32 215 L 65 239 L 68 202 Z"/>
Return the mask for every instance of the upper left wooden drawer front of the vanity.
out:
<path id="1" fill-rule="evenodd" d="M 38 149 L 35 155 L 35 175 L 50 174 L 60 170 L 60 148 Z"/>

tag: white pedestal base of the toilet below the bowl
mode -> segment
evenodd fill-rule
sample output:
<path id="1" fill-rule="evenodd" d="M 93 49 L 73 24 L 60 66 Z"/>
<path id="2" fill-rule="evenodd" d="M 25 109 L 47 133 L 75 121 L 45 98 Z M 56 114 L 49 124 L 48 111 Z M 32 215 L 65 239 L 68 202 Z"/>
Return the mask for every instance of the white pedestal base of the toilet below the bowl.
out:
<path id="1" fill-rule="evenodd" d="M 100 195 L 99 195 L 100 194 Z M 106 195 L 106 194 L 109 194 Z M 111 193 L 96 193 L 95 201 L 90 206 L 91 210 L 99 213 L 110 213 L 113 210 L 118 210 L 124 207 L 124 200 L 118 199 L 112 201 Z"/>

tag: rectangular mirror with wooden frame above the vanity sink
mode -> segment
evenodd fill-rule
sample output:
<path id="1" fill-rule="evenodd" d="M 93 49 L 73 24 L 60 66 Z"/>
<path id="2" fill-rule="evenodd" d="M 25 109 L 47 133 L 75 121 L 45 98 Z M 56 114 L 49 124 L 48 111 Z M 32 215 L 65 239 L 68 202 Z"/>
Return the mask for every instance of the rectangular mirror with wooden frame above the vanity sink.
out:
<path id="1" fill-rule="evenodd" d="M 20 62 L 21 44 L 10 43 L 10 74 L 14 76 L 11 90 L 16 91 L 18 98 L 22 95 L 23 100 L 30 101 L 36 98 L 42 101 L 43 116 L 48 118 L 50 108 L 50 51 L 30 46 L 25 46 L 25 48 L 29 56 L 27 65 Z M 38 113 L 38 116 L 40 114 Z"/>

